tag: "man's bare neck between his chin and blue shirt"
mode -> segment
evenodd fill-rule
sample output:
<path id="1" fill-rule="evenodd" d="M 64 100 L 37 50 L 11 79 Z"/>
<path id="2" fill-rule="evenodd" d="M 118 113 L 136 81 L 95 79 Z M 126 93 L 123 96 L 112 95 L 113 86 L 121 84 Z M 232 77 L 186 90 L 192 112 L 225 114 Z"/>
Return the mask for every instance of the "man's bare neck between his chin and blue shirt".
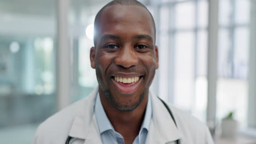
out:
<path id="1" fill-rule="evenodd" d="M 132 111 L 121 111 L 115 108 L 100 91 L 101 103 L 104 107 L 106 115 L 110 123 L 113 125 L 115 131 L 120 133 L 125 140 L 134 140 L 135 137 L 139 134 L 141 128 L 144 114 L 146 112 L 146 106 L 148 102 L 148 92 L 146 92 L 145 97 L 143 98 L 141 104 Z"/>

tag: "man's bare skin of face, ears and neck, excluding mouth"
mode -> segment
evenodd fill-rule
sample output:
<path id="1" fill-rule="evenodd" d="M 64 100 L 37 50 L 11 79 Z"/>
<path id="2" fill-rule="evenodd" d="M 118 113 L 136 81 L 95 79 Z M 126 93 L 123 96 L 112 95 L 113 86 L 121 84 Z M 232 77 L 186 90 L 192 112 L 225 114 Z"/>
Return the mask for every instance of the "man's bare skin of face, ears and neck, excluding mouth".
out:
<path id="1" fill-rule="evenodd" d="M 91 67 L 96 69 L 98 92 L 104 110 L 115 131 L 125 143 L 132 143 L 139 134 L 147 106 L 149 86 L 158 69 L 158 47 L 148 11 L 137 5 L 112 5 L 104 9 L 97 27 L 96 46 L 91 47 Z M 113 85 L 114 76 L 140 76 L 141 83 L 132 93 L 123 93 Z M 134 110 L 117 109 L 105 93 L 113 95 L 121 107 L 138 104 Z"/>

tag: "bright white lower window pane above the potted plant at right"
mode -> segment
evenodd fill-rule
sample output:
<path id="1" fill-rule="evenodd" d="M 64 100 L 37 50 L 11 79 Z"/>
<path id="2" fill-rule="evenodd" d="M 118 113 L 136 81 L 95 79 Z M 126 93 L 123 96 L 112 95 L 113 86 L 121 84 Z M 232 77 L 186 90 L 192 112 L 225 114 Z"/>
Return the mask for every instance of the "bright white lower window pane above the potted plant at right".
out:
<path id="1" fill-rule="evenodd" d="M 217 82 L 217 118 L 222 119 L 230 111 L 240 127 L 247 125 L 248 83 L 244 80 L 219 79 Z"/>

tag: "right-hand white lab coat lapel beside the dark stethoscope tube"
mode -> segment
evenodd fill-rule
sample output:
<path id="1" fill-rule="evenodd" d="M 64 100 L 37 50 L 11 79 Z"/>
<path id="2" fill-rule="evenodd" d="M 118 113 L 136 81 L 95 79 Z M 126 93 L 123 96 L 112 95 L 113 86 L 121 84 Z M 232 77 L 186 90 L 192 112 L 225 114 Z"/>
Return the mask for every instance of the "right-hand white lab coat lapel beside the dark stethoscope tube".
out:
<path id="1" fill-rule="evenodd" d="M 150 94 L 152 96 L 153 116 L 146 143 L 171 143 L 181 139 L 182 134 L 177 129 L 164 104 L 162 104 L 162 102 L 153 92 L 150 92 Z"/>

